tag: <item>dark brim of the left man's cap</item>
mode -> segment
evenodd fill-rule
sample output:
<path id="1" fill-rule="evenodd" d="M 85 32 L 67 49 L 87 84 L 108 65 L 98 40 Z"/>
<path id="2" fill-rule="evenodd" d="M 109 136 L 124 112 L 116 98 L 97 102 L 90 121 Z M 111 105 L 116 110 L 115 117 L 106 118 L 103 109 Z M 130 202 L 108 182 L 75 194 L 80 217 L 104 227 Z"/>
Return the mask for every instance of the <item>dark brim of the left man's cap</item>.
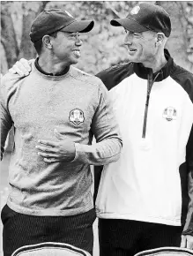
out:
<path id="1" fill-rule="evenodd" d="M 75 20 L 70 25 L 64 26 L 63 31 L 86 33 L 93 29 L 93 20 Z"/>

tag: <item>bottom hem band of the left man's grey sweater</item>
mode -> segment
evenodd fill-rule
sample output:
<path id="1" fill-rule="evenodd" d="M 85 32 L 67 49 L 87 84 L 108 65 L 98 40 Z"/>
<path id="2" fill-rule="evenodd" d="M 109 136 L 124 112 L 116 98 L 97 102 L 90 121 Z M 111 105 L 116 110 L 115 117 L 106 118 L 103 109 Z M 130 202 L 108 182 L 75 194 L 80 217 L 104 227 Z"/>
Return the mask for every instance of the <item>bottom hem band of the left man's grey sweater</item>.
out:
<path id="1" fill-rule="evenodd" d="M 71 216 L 71 215 L 81 215 L 84 214 L 91 209 L 93 206 L 89 207 L 79 207 L 72 208 L 67 210 L 56 210 L 56 208 L 48 208 L 41 210 L 33 210 L 26 207 L 19 207 L 12 204 L 10 201 L 7 201 L 7 206 L 10 207 L 13 211 L 22 214 L 22 215 L 33 215 L 33 216 Z"/>

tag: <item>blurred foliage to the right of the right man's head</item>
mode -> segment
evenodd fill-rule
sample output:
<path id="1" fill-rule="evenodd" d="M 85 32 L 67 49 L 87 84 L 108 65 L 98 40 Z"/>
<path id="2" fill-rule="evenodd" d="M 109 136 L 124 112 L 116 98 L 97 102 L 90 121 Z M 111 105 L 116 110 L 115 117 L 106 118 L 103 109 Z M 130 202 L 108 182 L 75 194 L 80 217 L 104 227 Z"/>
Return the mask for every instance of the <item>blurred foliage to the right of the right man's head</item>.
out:
<path id="1" fill-rule="evenodd" d="M 172 33 L 167 49 L 177 64 L 193 72 L 193 2 L 159 2 L 169 13 Z"/>

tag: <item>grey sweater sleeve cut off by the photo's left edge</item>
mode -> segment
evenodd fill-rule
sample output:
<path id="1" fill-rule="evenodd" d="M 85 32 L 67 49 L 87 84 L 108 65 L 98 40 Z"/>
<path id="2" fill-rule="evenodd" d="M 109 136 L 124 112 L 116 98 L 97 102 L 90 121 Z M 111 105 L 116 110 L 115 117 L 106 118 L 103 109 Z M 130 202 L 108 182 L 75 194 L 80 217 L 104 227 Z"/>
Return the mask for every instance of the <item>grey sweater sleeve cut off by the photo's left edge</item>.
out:
<path id="1" fill-rule="evenodd" d="M 4 155 L 4 144 L 7 138 L 8 132 L 11 130 L 12 120 L 9 113 L 9 109 L 6 104 L 6 90 L 4 87 L 4 79 L 1 80 L 0 89 L 0 117 L 1 117 L 1 160 Z"/>

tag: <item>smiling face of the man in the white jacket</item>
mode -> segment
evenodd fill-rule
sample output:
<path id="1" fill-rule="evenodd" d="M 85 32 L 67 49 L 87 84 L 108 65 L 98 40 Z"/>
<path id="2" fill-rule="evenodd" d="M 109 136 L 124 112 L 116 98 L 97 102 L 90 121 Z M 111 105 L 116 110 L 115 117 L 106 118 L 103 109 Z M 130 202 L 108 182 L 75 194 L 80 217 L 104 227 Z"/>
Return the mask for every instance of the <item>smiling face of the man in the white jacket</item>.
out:
<path id="1" fill-rule="evenodd" d="M 127 47 L 129 60 L 134 63 L 151 63 L 156 57 L 156 33 L 145 31 L 133 33 L 125 30 L 123 44 Z"/>

